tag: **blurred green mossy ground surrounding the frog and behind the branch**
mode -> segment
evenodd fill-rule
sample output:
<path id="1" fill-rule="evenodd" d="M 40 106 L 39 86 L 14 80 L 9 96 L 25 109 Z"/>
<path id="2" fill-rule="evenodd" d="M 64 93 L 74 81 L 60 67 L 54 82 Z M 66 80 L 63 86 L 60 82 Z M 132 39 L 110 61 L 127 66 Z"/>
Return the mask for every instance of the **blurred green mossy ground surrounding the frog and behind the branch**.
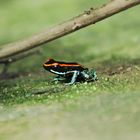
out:
<path id="1" fill-rule="evenodd" d="M 0 44 L 41 32 L 107 2 L 0 0 Z M 44 45 L 0 79 L 0 140 L 139 140 L 140 8 Z M 42 64 L 48 57 L 95 68 L 97 82 L 65 86 Z M 2 66 L 0 67 L 2 70 Z"/>

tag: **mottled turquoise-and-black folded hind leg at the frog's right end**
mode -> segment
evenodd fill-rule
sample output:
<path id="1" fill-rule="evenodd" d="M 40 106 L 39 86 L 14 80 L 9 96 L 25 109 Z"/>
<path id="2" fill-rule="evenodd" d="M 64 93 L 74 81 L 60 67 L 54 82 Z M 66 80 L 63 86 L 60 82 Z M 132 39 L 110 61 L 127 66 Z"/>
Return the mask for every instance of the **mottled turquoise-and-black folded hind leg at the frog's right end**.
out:
<path id="1" fill-rule="evenodd" d="M 84 78 L 86 79 L 86 81 L 95 81 L 95 80 L 98 80 L 98 77 L 97 77 L 97 74 L 96 74 L 96 71 L 91 69 L 85 69 L 83 72 L 82 72 Z"/>

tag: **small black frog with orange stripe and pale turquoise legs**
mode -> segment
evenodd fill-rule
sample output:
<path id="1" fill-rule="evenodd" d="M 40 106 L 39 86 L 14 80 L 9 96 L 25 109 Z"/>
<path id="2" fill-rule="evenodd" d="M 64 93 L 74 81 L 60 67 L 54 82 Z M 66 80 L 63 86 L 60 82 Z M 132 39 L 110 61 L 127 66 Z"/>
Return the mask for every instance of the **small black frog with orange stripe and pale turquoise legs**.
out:
<path id="1" fill-rule="evenodd" d="M 57 75 L 54 81 L 64 81 L 67 84 L 74 84 L 75 82 L 98 80 L 96 71 L 89 70 L 75 62 L 61 62 L 48 59 L 43 64 L 43 67 L 47 71 Z"/>

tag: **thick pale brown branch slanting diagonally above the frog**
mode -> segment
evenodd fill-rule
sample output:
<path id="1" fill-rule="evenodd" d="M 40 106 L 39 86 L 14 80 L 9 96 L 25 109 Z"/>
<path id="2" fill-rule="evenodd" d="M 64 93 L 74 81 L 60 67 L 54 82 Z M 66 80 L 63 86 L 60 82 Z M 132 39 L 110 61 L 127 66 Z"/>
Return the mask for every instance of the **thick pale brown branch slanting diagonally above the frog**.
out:
<path id="1" fill-rule="evenodd" d="M 138 4 L 140 4 L 140 0 L 112 0 L 110 3 L 100 8 L 91 8 L 90 10 L 69 21 L 50 28 L 44 33 L 34 35 L 14 44 L 2 46 L 0 49 L 0 60 L 35 48 L 41 44 L 48 43 L 88 25 L 95 24 L 96 22 Z"/>

